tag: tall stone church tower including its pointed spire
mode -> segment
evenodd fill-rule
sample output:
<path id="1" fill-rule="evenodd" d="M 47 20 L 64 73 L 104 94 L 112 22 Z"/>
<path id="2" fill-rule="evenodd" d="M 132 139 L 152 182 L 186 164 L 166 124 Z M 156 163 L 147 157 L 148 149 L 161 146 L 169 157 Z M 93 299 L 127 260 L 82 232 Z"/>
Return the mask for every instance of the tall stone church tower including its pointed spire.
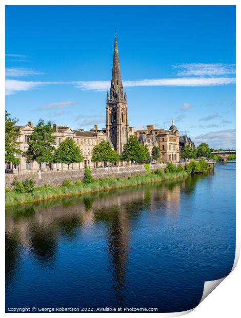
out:
<path id="1" fill-rule="evenodd" d="M 126 92 L 123 97 L 121 69 L 115 34 L 114 57 L 110 93 L 107 91 L 106 101 L 106 133 L 111 139 L 115 150 L 122 153 L 123 146 L 128 140 L 128 109 Z"/>

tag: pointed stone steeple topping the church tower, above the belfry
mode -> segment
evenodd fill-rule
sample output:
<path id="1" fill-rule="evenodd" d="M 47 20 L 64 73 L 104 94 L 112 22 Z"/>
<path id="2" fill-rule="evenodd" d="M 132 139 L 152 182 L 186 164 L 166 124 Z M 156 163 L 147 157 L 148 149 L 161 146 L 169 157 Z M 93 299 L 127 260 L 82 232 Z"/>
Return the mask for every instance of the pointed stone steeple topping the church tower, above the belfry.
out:
<path id="1" fill-rule="evenodd" d="M 115 33 L 113 68 L 110 88 L 110 98 L 123 98 L 123 85 L 121 77 L 121 69 L 119 67 L 119 54 L 117 46 L 117 38 Z"/>

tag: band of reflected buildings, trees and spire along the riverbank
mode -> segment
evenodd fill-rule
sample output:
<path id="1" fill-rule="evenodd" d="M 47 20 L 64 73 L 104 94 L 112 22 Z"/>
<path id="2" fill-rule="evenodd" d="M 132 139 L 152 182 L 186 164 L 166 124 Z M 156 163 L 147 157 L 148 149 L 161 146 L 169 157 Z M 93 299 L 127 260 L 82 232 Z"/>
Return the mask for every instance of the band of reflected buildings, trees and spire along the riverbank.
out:
<path id="1" fill-rule="evenodd" d="M 92 231 L 95 223 L 105 222 L 108 258 L 112 270 L 113 289 L 118 304 L 123 302 L 126 284 L 130 231 L 145 211 L 150 226 L 158 217 L 177 215 L 180 185 L 165 183 L 109 193 L 76 196 L 61 201 L 14 207 L 6 217 L 6 244 L 14 252 L 8 256 L 7 277 L 17 268 L 18 251 L 27 248 L 41 266 L 52 266 L 62 236 L 79 240 L 79 233 Z M 192 185 L 193 186 L 193 185 Z M 12 266 L 11 266 L 12 264 Z M 14 265 L 15 264 L 15 265 Z"/>

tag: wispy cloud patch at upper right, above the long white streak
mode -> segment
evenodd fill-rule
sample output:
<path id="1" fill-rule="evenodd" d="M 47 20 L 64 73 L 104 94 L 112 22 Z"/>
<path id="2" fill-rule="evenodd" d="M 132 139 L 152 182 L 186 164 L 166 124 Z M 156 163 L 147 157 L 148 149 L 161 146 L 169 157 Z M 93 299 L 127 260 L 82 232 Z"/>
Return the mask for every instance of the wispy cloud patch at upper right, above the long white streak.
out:
<path id="1" fill-rule="evenodd" d="M 190 63 L 174 66 L 178 76 L 224 76 L 235 74 L 235 64 Z"/>

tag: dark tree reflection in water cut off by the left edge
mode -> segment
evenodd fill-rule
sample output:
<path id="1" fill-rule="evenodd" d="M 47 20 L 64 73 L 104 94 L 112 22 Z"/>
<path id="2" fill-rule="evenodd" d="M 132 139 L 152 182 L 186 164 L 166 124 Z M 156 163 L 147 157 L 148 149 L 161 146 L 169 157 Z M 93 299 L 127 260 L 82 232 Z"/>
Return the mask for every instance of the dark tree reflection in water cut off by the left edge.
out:
<path id="1" fill-rule="evenodd" d="M 5 235 L 5 277 L 6 286 L 10 285 L 18 273 L 19 263 L 21 261 L 21 243 L 19 237 L 14 234 Z"/>

